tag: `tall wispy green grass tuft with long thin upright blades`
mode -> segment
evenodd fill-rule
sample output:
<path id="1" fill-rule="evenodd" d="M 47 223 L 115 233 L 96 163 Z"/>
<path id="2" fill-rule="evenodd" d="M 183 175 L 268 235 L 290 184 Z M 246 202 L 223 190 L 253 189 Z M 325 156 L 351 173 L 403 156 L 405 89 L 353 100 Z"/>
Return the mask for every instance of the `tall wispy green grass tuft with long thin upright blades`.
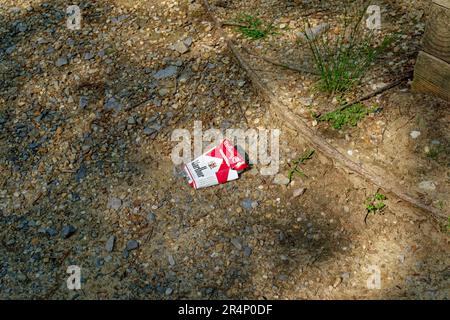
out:
<path id="1" fill-rule="evenodd" d="M 305 32 L 306 44 L 320 75 L 316 84 L 320 91 L 335 94 L 353 88 L 393 42 L 394 37 L 387 36 L 376 44 L 374 32 L 365 28 L 366 8 L 352 15 L 346 13 L 337 34 L 335 28 L 318 36 Z M 305 30 L 311 28 L 309 20 L 305 20 L 304 26 Z"/>

